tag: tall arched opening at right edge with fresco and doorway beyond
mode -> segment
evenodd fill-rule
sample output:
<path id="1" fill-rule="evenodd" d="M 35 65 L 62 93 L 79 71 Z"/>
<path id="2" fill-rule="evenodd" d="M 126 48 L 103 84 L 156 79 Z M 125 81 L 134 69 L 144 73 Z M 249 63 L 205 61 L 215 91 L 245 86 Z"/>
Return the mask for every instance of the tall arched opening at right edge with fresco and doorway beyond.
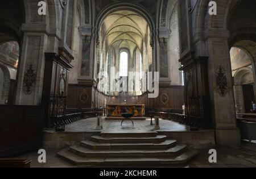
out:
<path id="1" fill-rule="evenodd" d="M 255 101 L 255 1 L 232 3 L 228 16 L 229 47 L 234 80 L 234 97 L 239 113 L 250 113 Z"/>

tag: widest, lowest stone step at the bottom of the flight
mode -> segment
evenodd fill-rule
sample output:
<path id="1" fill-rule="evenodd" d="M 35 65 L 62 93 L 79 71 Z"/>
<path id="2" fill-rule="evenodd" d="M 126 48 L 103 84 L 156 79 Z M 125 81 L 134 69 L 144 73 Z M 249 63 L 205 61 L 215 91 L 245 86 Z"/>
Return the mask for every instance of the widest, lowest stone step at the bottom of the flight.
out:
<path id="1" fill-rule="evenodd" d="M 195 149 L 189 149 L 179 156 L 173 157 L 105 157 L 105 158 L 84 158 L 75 153 L 61 151 L 58 156 L 75 166 L 115 166 L 115 167 L 140 167 L 140 166 L 181 166 L 192 160 L 197 155 Z"/>

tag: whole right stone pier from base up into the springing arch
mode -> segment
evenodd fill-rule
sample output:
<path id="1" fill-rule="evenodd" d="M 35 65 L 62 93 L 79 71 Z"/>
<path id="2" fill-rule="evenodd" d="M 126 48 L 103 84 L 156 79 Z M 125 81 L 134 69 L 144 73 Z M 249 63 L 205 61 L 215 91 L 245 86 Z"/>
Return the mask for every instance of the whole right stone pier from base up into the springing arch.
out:
<path id="1" fill-rule="evenodd" d="M 195 50 L 195 58 L 207 57 L 205 68 L 208 70 L 209 90 L 206 94 L 209 95 L 209 111 L 212 125 L 216 128 L 216 141 L 219 144 L 237 144 L 240 143 L 240 131 L 237 130 L 235 113 L 228 22 L 230 10 L 238 1 L 216 0 L 217 15 L 209 15 L 209 2 L 199 1 L 191 11 L 195 45 L 193 50 Z M 224 77 L 225 85 L 218 80 L 221 76 Z M 221 94 L 221 91 L 224 93 Z M 224 130 L 224 128 L 232 130 Z M 224 133 L 234 137 L 230 139 Z"/>

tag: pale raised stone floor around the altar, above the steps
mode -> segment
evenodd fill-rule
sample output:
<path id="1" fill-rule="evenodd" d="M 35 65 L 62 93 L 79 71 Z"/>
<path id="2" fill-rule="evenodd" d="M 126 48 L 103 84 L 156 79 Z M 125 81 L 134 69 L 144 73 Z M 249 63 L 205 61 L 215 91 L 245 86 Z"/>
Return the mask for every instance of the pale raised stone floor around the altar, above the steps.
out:
<path id="1" fill-rule="evenodd" d="M 150 119 L 134 120 L 133 124 L 125 121 L 121 126 L 121 120 L 102 120 L 103 130 L 96 130 L 96 118 L 79 120 L 66 126 L 66 132 L 148 132 L 155 131 L 154 126 L 150 125 Z M 154 120 L 153 120 L 154 122 Z M 160 119 L 160 131 L 189 131 L 189 126 L 185 126 L 170 120 Z"/>

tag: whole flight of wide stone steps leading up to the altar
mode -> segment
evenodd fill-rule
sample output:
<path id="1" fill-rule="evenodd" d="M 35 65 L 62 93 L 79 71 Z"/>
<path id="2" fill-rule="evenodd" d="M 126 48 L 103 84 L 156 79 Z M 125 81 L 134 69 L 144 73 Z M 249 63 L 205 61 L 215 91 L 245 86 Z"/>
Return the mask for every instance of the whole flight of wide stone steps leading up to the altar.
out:
<path id="1" fill-rule="evenodd" d="M 58 156 L 77 166 L 183 165 L 197 155 L 158 132 L 104 133 L 64 149 Z"/>

